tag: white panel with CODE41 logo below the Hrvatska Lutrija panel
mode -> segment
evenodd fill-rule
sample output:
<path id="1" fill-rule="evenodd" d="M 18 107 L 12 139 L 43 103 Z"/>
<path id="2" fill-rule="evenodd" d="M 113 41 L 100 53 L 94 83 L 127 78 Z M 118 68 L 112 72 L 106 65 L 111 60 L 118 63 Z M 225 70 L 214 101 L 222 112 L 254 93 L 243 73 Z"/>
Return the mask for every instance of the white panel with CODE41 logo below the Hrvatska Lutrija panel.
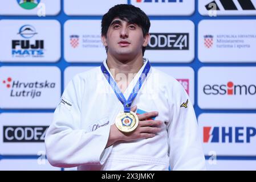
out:
<path id="1" fill-rule="evenodd" d="M 45 155 L 44 137 L 52 113 L 0 114 L 0 154 Z"/>

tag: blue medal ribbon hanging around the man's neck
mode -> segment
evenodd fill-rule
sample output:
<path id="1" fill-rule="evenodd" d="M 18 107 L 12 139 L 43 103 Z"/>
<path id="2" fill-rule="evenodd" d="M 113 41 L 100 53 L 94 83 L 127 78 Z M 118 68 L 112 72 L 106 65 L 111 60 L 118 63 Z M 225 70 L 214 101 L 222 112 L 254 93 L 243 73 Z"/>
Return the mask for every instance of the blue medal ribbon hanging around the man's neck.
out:
<path id="1" fill-rule="evenodd" d="M 148 72 L 151 68 L 151 65 L 149 63 L 149 61 L 147 62 L 147 64 L 145 65 L 143 72 L 141 73 L 139 80 L 136 82 L 134 88 L 132 89 L 132 93 L 130 94 L 130 96 L 128 97 L 128 100 L 125 99 L 123 93 L 121 92 L 121 90 L 119 89 L 119 87 L 116 84 L 116 81 L 111 77 L 110 73 L 108 72 L 107 68 L 105 68 L 104 64 L 101 64 L 100 66 L 101 71 L 103 73 L 103 75 L 105 76 L 105 78 L 107 79 L 109 85 L 111 86 L 111 88 L 113 89 L 113 91 L 115 92 L 117 98 L 119 99 L 119 101 L 123 104 L 124 106 L 124 112 L 125 113 L 129 113 L 129 111 L 131 110 L 131 104 L 132 101 L 135 99 L 135 97 L 137 96 L 137 93 L 139 92 L 143 82 L 145 81 L 145 78 L 148 75 Z"/>

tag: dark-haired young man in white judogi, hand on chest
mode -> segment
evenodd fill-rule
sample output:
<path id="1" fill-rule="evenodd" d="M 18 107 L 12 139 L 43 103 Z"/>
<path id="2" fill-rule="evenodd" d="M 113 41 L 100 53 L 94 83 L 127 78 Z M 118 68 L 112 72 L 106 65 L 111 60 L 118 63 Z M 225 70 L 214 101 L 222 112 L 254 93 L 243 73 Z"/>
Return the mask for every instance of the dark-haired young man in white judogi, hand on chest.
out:
<path id="1" fill-rule="evenodd" d="M 64 90 L 45 139 L 52 166 L 205 169 L 188 94 L 143 58 L 149 27 L 148 16 L 132 5 L 116 5 L 103 16 L 107 60 Z"/>

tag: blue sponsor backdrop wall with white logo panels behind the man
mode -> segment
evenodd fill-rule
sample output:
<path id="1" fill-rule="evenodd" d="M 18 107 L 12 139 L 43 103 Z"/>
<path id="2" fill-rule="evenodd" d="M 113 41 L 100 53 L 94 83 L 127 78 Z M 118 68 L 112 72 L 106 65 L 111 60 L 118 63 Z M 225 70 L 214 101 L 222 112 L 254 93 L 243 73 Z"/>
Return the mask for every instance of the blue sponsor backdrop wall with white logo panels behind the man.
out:
<path id="1" fill-rule="evenodd" d="M 208 169 L 256 170 L 256 0 L 0 0 L 0 170 L 68 170 L 44 135 L 67 82 L 105 59 L 119 3 L 149 15 L 145 57 L 188 92 Z"/>

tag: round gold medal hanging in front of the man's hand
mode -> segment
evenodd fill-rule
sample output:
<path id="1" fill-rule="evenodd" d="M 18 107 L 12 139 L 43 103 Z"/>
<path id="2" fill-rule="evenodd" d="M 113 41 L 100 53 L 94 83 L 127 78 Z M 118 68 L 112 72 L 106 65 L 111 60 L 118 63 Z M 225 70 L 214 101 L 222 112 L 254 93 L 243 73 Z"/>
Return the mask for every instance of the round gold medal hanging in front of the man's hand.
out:
<path id="1" fill-rule="evenodd" d="M 133 111 L 129 111 L 129 113 L 121 111 L 116 116 L 115 125 L 120 131 L 124 133 L 129 133 L 135 130 L 136 127 L 139 125 L 139 118 Z"/>

